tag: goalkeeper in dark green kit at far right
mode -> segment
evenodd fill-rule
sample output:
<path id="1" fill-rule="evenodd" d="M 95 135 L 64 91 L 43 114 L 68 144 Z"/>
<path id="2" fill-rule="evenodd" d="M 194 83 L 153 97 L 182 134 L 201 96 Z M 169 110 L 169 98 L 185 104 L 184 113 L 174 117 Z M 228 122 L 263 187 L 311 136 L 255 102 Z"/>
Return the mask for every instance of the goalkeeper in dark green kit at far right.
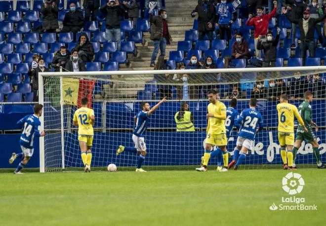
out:
<path id="1" fill-rule="evenodd" d="M 319 144 L 316 139 L 316 136 L 312 130 L 312 127 L 314 126 L 316 131 L 318 131 L 318 126 L 316 123 L 312 121 L 312 108 L 310 103 L 313 101 L 313 94 L 310 91 L 306 91 L 304 93 L 304 101 L 299 105 L 299 114 L 301 115 L 304 126 L 308 129 L 308 131 L 305 131 L 305 128 L 303 126 L 298 126 L 298 129 L 296 130 L 296 137 L 295 137 L 295 143 L 293 147 L 293 167 L 295 167 L 295 158 L 296 153 L 298 149 L 301 146 L 302 140 L 305 139 L 313 146 L 314 156 L 317 160 L 317 168 L 319 169 L 325 169 L 326 165 L 322 163 L 320 153 L 319 153 Z"/>

